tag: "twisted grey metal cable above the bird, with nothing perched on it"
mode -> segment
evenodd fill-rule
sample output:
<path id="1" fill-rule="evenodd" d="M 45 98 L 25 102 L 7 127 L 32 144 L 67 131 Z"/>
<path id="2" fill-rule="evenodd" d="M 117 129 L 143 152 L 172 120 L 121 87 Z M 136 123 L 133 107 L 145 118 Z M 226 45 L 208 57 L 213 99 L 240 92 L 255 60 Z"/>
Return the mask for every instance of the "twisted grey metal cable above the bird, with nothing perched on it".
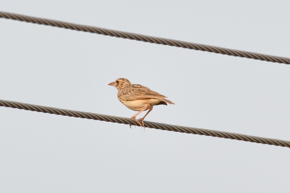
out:
<path id="1" fill-rule="evenodd" d="M 285 57 L 280 57 L 280 56 L 271 56 L 271 55 L 259 54 L 259 53 L 254 53 L 254 52 L 227 49 L 227 48 L 222 48 L 222 47 L 217 47 L 217 46 L 190 43 L 190 42 L 185 42 L 185 41 L 158 38 L 158 37 L 153 37 L 153 36 L 145 36 L 141 34 L 134 34 L 134 33 L 128 33 L 128 32 L 120 32 L 120 31 L 108 30 L 108 29 L 104 29 L 100 27 L 79 25 L 79 24 L 74 24 L 74 23 L 55 21 L 51 19 L 43 19 L 43 18 L 38 18 L 38 17 L 31 17 L 31 16 L 26 16 L 26 15 L 8 13 L 8 12 L 0 12 L 0 18 L 25 21 L 28 23 L 37 23 L 41 25 L 50 25 L 53 27 L 61 27 L 61 28 L 66 28 L 66 29 L 71 29 L 71 30 L 103 34 L 106 36 L 114 36 L 118 38 L 125 38 L 125 39 L 131 39 L 131 40 L 137 40 L 137 41 L 143 41 L 143 42 L 149 42 L 149 43 L 155 43 L 155 44 L 201 50 L 201 51 L 213 52 L 217 54 L 224 54 L 228 56 L 237 56 L 237 57 L 251 58 L 251 59 L 262 60 L 262 61 L 267 61 L 267 62 L 290 64 L 290 58 L 285 58 Z"/>

